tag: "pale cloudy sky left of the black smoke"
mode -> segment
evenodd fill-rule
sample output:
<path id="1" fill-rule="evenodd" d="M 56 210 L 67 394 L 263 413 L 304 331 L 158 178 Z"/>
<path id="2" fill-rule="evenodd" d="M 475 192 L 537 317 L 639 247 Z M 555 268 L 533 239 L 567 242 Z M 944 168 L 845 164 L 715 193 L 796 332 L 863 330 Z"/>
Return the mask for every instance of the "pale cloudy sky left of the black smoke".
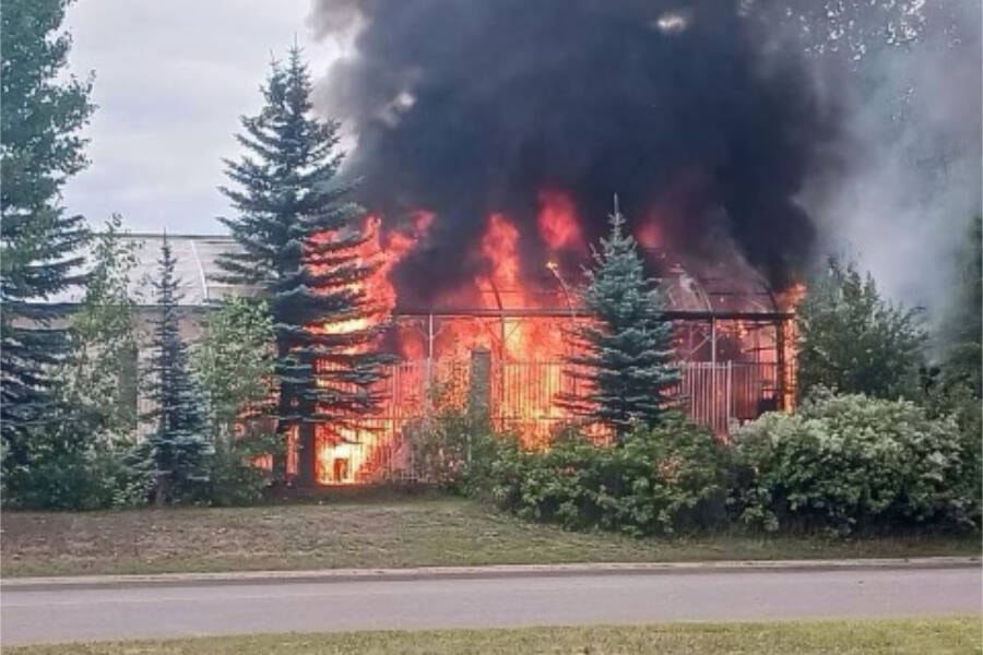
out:
<path id="1" fill-rule="evenodd" d="M 273 55 L 297 43 L 315 79 L 341 51 L 316 43 L 311 0 L 78 0 L 64 27 L 72 72 L 95 72 L 85 135 L 91 166 L 64 189 L 70 212 L 135 233 L 223 234 L 217 187 L 240 152 L 239 116 L 256 114 Z"/>

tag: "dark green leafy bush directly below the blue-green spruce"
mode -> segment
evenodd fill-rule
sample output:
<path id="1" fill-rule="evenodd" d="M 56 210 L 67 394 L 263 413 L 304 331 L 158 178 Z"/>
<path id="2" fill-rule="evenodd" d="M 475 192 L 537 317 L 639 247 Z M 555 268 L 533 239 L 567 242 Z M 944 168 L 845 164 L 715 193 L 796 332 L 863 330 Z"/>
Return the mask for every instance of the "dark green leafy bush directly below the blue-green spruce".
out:
<path id="1" fill-rule="evenodd" d="M 673 534 L 722 523 L 726 449 L 704 429 L 674 421 L 617 446 L 573 431 L 543 452 L 501 442 L 490 467 L 499 508 L 571 529 Z"/>

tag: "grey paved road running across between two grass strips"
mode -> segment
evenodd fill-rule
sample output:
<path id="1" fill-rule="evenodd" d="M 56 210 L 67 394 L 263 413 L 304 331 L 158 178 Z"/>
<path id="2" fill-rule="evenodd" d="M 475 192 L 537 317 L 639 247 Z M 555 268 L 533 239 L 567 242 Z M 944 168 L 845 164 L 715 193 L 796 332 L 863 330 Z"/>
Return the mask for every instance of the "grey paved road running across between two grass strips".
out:
<path id="1" fill-rule="evenodd" d="M 981 611 L 979 567 L 3 591 L 4 645 L 283 631 Z"/>

